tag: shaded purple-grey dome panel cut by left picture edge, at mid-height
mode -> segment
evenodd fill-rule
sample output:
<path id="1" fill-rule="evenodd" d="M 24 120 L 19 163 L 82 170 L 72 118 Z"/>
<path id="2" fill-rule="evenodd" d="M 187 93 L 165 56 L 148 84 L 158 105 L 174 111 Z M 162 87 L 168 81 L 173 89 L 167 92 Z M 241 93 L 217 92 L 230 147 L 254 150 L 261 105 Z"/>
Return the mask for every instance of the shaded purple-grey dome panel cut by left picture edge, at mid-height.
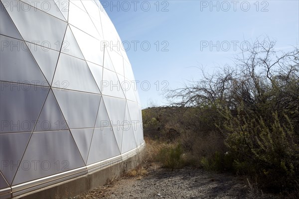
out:
<path id="1" fill-rule="evenodd" d="M 0 88 L 0 132 L 32 131 L 49 88 L 5 82 Z"/>

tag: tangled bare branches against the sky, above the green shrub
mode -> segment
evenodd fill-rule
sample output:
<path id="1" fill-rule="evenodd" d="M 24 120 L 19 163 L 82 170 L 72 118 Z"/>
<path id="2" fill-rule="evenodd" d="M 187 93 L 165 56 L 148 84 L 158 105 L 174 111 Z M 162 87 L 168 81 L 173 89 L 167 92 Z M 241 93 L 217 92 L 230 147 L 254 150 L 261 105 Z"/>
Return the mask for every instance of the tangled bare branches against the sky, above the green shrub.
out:
<path id="1" fill-rule="evenodd" d="M 275 49 L 275 43 L 257 39 L 236 57 L 234 66 L 226 65 L 212 75 L 201 69 L 201 80 L 168 91 L 166 98 L 176 106 L 217 103 L 233 110 L 244 103 L 255 111 L 260 111 L 260 104 L 275 100 L 276 110 L 298 110 L 299 49 L 284 53 Z"/>

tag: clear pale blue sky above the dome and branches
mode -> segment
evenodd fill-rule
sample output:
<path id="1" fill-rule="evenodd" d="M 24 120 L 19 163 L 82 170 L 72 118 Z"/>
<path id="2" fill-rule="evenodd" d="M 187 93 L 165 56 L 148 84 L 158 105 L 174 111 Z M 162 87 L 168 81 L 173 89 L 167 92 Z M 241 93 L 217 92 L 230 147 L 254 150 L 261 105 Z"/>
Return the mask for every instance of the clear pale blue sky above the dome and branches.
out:
<path id="1" fill-rule="evenodd" d="M 290 51 L 299 42 L 298 0 L 101 2 L 140 81 L 143 108 L 167 104 L 163 89 L 200 79 L 198 67 L 212 73 L 232 64 L 240 44 L 246 48 L 267 35 L 277 48 Z"/>

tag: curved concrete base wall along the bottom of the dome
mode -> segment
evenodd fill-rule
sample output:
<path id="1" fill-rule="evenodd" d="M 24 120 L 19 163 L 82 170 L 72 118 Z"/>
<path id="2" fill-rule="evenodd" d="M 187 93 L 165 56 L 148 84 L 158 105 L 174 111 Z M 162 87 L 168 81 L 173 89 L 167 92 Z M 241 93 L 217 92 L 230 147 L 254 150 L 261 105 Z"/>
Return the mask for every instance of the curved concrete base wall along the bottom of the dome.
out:
<path id="1" fill-rule="evenodd" d="M 122 154 L 122 157 L 120 157 L 121 159 L 119 158 L 117 161 L 112 160 L 109 162 L 109 160 L 106 160 L 109 164 L 103 164 L 102 162 L 97 163 L 94 167 L 86 167 L 86 174 L 82 176 L 70 180 L 65 180 L 65 178 L 63 178 L 63 182 L 42 188 L 38 188 L 39 186 L 36 184 L 36 186 L 31 188 L 16 190 L 16 192 L 2 195 L 1 199 L 11 197 L 15 199 L 65 199 L 80 195 L 105 185 L 108 181 L 113 181 L 122 174 L 136 168 L 141 163 L 144 150 L 145 144 L 126 154 Z M 53 181 L 53 183 L 55 182 Z M 28 192 L 28 189 L 32 189 L 33 191 Z"/>

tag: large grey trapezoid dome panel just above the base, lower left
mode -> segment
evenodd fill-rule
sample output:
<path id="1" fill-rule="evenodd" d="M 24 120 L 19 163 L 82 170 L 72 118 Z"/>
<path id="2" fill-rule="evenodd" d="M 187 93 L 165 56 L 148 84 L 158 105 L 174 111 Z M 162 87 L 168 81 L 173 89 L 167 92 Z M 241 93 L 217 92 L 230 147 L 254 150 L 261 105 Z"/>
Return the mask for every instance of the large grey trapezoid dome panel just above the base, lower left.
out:
<path id="1" fill-rule="evenodd" d="M 22 160 L 40 163 L 18 170 L 12 185 L 85 166 L 69 130 L 33 133 Z"/>

